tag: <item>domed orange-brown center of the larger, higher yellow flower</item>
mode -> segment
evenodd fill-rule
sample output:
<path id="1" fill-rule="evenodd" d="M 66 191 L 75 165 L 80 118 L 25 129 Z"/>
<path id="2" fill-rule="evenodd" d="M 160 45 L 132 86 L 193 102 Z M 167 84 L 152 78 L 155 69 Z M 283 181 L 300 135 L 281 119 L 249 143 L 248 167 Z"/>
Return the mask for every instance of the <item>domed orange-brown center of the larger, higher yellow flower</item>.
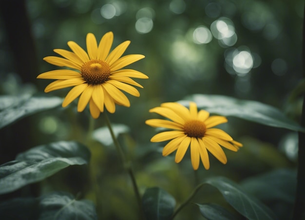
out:
<path id="1" fill-rule="evenodd" d="M 98 59 L 85 62 L 80 72 L 87 83 L 93 85 L 107 81 L 111 73 L 109 64 Z"/>

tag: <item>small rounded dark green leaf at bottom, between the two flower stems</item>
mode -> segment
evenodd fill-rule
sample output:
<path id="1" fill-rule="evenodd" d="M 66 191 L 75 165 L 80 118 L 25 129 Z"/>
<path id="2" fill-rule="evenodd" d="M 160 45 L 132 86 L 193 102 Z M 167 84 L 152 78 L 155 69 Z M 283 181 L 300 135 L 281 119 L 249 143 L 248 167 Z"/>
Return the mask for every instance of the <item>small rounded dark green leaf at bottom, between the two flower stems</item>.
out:
<path id="1" fill-rule="evenodd" d="M 172 195 L 159 187 L 146 189 L 142 202 L 147 220 L 169 220 L 176 204 Z"/>

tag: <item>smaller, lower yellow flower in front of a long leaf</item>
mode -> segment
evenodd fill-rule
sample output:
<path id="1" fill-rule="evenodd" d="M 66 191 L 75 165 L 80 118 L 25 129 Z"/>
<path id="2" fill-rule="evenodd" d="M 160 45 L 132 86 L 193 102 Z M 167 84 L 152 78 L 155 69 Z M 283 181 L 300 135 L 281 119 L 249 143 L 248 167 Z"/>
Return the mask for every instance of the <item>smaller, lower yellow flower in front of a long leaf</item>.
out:
<path id="1" fill-rule="evenodd" d="M 212 128 L 216 125 L 228 122 L 223 116 L 210 116 L 206 110 L 197 110 L 197 105 L 190 102 L 190 110 L 183 105 L 175 102 L 161 104 L 150 112 L 158 113 L 170 120 L 150 119 L 145 123 L 152 127 L 169 128 L 170 131 L 164 131 L 154 135 L 152 142 L 162 142 L 171 140 L 163 148 L 163 156 L 176 151 L 175 162 L 179 163 L 189 145 L 191 144 L 191 164 L 194 170 L 198 169 L 200 158 L 206 169 L 210 168 L 209 154 L 214 155 L 221 163 L 227 163 L 227 157 L 223 149 L 237 151 L 243 145 L 234 141 L 225 131 Z"/>

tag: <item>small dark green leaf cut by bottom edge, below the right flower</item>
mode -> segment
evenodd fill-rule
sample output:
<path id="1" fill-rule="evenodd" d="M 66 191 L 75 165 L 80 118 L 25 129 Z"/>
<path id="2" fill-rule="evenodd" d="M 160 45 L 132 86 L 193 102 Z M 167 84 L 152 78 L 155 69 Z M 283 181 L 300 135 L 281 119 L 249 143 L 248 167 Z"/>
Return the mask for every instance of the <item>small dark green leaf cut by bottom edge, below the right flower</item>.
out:
<path id="1" fill-rule="evenodd" d="M 199 206 L 200 213 L 203 217 L 205 217 L 208 220 L 233 220 L 237 219 L 235 215 L 230 213 L 227 209 L 224 207 L 212 204 L 212 203 L 206 203 L 206 204 L 196 204 Z"/>

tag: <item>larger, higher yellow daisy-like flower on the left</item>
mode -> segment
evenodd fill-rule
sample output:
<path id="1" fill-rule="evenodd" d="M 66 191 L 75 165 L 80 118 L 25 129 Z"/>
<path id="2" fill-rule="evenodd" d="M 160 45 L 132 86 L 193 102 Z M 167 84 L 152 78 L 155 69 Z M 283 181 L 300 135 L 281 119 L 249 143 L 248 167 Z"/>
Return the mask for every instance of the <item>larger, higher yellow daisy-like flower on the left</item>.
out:
<path id="1" fill-rule="evenodd" d="M 89 33 L 86 38 L 88 52 L 85 52 L 74 41 L 69 41 L 68 46 L 73 52 L 55 49 L 54 52 L 62 57 L 44 57 L 43 59 L 48 63 L 76 70 L 53 70 L 39 74 L 37 78 L 40 79 L 57 79 L 50 83 L 44 92 L 73 86 L 63 100 L 62 107 L 68 106 L 80 95 L 77 111 L 83 111 L 89 103 L 93 118 L 98 118 L 100 112 L 104 111 L 104 105 L 111 113 L 115 111 L 115 104 L 129 107 L 129 99 L 121 90 L 137 97 L 140 96 L 133 86 L 143 87 L 130 77 L 147 79 L 148 76 L 135 70 L 122 68 L 145 56 L 122 56 L 130 44 L 129 40 L 121 43 L 109 53 L 113 39 L 113 33 L 108 32 L 97 45 L 95 36 Z"/>

